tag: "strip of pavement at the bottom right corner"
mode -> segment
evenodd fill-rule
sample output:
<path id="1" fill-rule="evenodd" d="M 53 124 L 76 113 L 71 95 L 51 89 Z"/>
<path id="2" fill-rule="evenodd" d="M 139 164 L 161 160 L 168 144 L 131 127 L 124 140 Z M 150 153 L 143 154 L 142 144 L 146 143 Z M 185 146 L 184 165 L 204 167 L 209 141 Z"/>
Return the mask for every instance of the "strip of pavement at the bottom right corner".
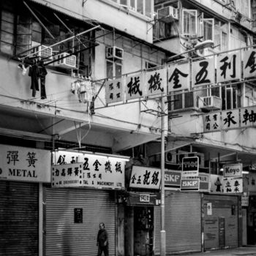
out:
<path id="1" fill-rule="evenodd" d="M 242 246 L 232 249 L 218 249 L 206 252 L 182 253 L 179 256 L 256 256 L 256 245 Z"/>

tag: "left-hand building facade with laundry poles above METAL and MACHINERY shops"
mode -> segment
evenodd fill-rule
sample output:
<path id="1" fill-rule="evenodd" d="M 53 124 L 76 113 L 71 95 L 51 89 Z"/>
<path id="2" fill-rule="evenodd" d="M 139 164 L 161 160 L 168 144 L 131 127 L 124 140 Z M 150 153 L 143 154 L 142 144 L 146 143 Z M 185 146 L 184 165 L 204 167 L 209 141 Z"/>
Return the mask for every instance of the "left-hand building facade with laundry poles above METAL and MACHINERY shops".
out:
<path id="1" fill-rule="evenodd" d="M 138 74 L 173 54 L 152 28 L 153 1 L 1 1 L 1 255 L 94 255 L 99 222 L 124 255 L 118 153 L 160 137 Z"/>

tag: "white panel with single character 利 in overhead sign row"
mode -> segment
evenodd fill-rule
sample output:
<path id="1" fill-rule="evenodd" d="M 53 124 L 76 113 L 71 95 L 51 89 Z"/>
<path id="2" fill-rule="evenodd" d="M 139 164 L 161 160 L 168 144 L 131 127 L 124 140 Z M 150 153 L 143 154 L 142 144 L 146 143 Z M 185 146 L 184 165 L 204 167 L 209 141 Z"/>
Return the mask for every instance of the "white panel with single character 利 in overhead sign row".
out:
<path id="1" fill-rule="evenodd" d="M 217 83 L 241 78 L 241 54 L 227 53 L 217 57 Z"/>

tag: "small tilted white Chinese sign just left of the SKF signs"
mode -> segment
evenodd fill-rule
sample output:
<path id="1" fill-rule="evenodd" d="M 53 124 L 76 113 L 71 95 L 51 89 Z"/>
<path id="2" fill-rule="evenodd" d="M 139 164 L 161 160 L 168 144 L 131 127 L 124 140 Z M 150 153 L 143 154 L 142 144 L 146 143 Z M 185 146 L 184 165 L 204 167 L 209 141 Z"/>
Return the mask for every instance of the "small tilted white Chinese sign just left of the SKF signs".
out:
<path id="1" fill-rule="evenodd" d="M 139 189 L 159 189 L 161 170 L 153 167 L 132 166 L 129 187 Z"/>

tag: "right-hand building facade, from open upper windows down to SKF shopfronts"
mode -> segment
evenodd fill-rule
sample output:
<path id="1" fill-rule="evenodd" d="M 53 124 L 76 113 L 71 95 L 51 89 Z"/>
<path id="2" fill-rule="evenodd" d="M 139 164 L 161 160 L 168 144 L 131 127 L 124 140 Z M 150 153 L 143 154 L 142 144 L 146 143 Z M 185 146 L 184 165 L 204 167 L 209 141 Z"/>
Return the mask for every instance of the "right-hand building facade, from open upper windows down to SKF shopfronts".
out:
<path id="1" fill-rule="evenodd" d="M 181 170 L 183 157 L 197 155 L 200 178 L 211 183 L 206 193 L 202 187 L 197 194 L 166 192 L 170 198 L 165 209 L 167 252 L 255 243 L 250 239 L 255 236 L 255 121 L 246 121 L 246 113 L 255 112 L 255 74 L 250 69 L 255 64 L 251 59 L 255 54 L 254 4 L 225 0 L 155 1 L 154 43 L 178 55 L 165 60 L 170 96 L 166 167 Z M 209 40 L 214 43 L 213 48 L 197 48 Z M 185 58 L 180 59 L 181 56 Z M 159 151 L 158 148 L 149 153 Z M 225 175 L 226 166 L 239 164 L 244 170 L 244 182 L 238 183 L 244 183 L 244 193 L 241 188 L 231 191 L 230 184 L 222 180 L 223 166 Z M 252 200 L 249 205 L 244 204 L 249 195 Z M 191 197 L 193 206 L 187 197 Z M 187 203 L 193 214 L 186 214 L 181 202 Z M 212 211 L 207 211 L 207 207 Z M 200 209 L 202 219 L 196 217 L 200 216 Z M 187 228 L 182 228 L 178 219 Z M 176 230 L 176 236 L 171 230 Z"/>

